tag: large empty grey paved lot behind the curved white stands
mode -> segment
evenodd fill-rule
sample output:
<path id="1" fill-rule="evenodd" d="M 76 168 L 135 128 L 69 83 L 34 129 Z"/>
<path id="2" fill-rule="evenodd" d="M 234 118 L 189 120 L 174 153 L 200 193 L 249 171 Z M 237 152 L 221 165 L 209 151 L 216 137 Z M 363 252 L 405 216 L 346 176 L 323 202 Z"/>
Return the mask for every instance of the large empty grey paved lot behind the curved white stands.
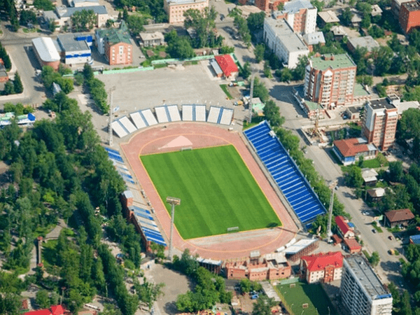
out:
<path id="1" fill-rule="evenodd" d="M 105 83 L 108 92 L 116 87 L 113 92 L 113 106 L 114 108 L 118 106 L 120 109 L 115 113 L 115 118 L 162 104 L 199 103 L 207 104 L 208 108 L 214 105 L 235 109 L 235 118 L 241 121 L 245 115 L 244 109 L 242 106 L 232 106 L 232 100 L 226 99 L 219 85 L 227 82 L 214 80 L 207 69 L 207 63 L 153 71 L 100 74 L 97 78 Z M 89 110 L 92 113 L 92 121 L 99 136 L 102 141 L 106 141 L 109 117 L 95 113 L 89 106 L 89 100 L 83 101 L 84 95 L 80 89 L 72 94 L 70 97 L 80 101 L 82 111 Z M 126 138 L 122 141 L 127 141 Z M 114 137 L 114 140 L 118 141 L 118 138 Z"/>

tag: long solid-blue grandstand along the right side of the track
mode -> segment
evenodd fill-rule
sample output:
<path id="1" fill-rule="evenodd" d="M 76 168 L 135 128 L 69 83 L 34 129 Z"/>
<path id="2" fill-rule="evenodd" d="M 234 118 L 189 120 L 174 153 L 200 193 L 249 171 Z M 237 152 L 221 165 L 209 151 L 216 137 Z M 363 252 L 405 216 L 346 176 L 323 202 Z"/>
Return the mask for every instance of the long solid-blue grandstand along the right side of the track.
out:
<path id="1" fill-rule="evenodd" d="M 300 221 L 309 226 L 325 208 L 267 121 L 244 132 Z"/>

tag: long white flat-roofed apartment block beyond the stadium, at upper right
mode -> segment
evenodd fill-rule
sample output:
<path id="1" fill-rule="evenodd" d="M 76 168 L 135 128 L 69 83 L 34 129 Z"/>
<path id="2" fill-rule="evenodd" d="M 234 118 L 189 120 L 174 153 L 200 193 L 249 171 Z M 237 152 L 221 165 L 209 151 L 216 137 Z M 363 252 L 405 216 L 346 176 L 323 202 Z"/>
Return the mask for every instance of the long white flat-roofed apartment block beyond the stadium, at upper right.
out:
<path id="1" fill-rule="evenodd" d="M 309 55 L 307 45 L 283 19 L 264 19 L 264 41 L 289 69 L 296 67 L 300 56 Z"/>

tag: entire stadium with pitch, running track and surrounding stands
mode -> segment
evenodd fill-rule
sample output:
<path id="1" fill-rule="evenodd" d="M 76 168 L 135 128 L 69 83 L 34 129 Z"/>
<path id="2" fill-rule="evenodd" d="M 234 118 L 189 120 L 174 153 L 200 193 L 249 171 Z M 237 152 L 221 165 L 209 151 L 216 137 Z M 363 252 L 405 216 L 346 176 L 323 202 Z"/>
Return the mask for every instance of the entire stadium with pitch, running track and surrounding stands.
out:
<path id="1" fill-rule="evenodd" d="M 181 199 L 175 253 L 189 248 L 211 260 L 272 253 L 325 213 L 266 122 L 235 132 L 223 126 L 232 121 L 229 109 L 211 106 L 207 113 L 204 105 L 191 104 L 181 114 L 176 105 L 146 111 L 113 122 L 118 136 L 134 134 L 120 145 L 123 154 L 106 148 L 132 182 L 127 187 L 140 187 L 144 202 L 127 208 L 146 243 L 169 244 L 169 196 Z M 130 168 L 118 165 L 124 160 Z"/>

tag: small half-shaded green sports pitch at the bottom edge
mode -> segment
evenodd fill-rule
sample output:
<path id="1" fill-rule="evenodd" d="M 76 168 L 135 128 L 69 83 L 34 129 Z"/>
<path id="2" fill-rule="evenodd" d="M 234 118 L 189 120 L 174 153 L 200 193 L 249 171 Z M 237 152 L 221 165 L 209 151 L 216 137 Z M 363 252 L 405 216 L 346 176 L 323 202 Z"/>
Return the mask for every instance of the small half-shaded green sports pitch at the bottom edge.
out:
<path id="1" fill-rule="evenodd" d="M 294 288 L 290 288 L 290 284 L 277 286 L 277 290 L 283 296 L 293 314 L 337 315 L 320 283 L 307 284 L 297 282 L 295 284 Z M 304 303 L 308 304 L 306 309 L 302 308 Z"/>

